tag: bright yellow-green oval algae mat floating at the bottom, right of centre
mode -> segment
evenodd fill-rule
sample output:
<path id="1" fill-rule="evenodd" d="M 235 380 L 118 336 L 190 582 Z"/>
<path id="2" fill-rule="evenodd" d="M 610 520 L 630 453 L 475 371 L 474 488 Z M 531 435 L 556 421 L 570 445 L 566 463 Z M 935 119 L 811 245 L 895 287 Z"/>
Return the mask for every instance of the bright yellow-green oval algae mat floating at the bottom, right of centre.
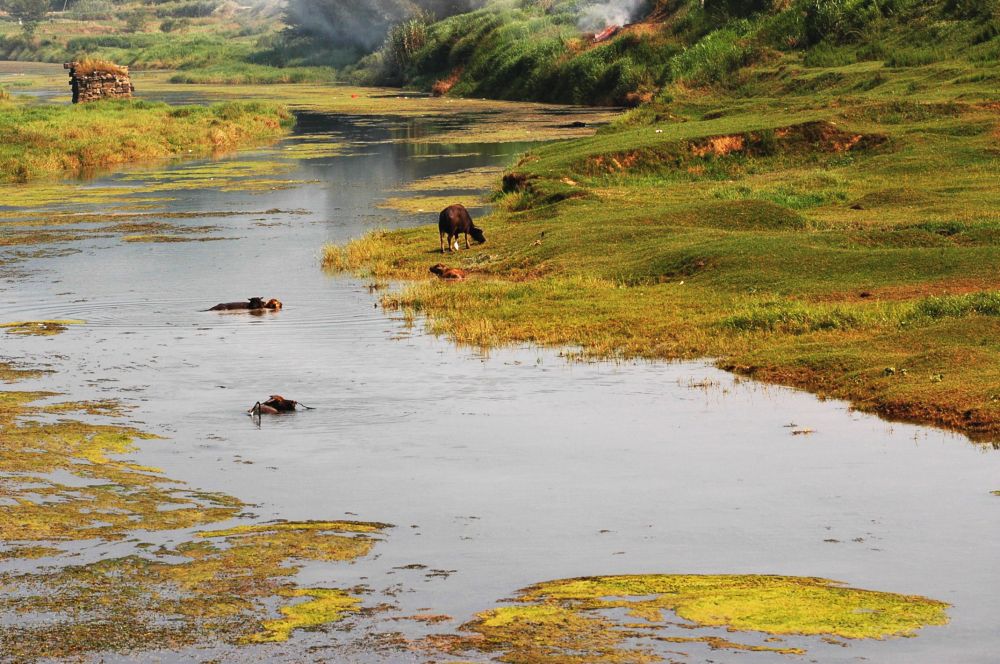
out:
<path id="1" fill-rule="evenodd" d="M 883 639 L 911 636 L 921 627 L 948 620 L 944 602 L 794 576 L 566 579 L 527 588 L 515 601 L 478 614 L 462 626 L 464 636 L 434 638 L 435 646 L 519 663 L 657 662 L 662 658 L 652 648 L 656 642 L 801 655 L 802 647 L 782 645 L 779 636 L 814 636 L 828 642 L 836 637 Z M 626 618 L 613 617 L 616 614 Z M 690 635 L 664 635 L 670 627 Z M 767 645 L 697 633 L 706 627 L 768 635 Z"/>

